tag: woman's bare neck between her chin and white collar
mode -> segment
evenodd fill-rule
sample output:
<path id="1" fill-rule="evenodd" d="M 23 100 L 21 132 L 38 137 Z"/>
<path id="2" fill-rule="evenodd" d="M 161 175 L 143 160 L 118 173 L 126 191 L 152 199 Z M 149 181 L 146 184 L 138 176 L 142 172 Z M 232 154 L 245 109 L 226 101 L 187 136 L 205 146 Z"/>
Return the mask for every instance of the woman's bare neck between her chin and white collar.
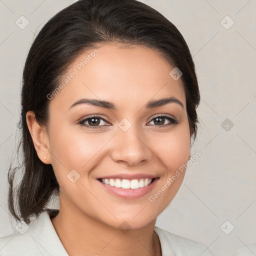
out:
<path id="1" fill-rule="evenodd" d="M 160 242 L 153 231 L 155 221 L 137 228 L 121 230 L 86 215 L 75 207 L 60 207 L 52 225 L 69 256 L 161 255 Z"/>

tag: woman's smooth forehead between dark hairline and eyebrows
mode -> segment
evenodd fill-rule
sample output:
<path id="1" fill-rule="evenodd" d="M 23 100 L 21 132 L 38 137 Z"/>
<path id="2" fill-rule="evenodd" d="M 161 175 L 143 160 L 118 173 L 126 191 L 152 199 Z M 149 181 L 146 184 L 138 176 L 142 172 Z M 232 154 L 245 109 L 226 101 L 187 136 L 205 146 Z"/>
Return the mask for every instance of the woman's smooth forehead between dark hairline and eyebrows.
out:
<path id="1" fill-rule="evenodd" d="M 127 104 L 136 108 L 148 100 L 174 96 L 185 106 L 182 80 L 169 75 L 173 67 L 158 51 L 145 46 L 99 45 L 73 61 L 50 104 L 68 108 L 79 98 L 91 97 L 123 109 Z"/>

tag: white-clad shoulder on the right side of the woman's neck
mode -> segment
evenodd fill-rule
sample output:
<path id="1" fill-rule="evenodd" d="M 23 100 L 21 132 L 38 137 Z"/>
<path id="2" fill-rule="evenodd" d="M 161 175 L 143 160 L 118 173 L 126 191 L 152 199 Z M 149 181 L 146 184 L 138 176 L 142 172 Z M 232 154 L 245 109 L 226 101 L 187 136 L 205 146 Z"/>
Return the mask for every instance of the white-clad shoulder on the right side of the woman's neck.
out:
<path id="1" fill-rule="evenodd" d="M 170 233 L 157 226 L 154 227 L 154 231 L 158 234 L 161 243 L 162 256 L 212 256 L 210 250 L 199 242 Z"/>

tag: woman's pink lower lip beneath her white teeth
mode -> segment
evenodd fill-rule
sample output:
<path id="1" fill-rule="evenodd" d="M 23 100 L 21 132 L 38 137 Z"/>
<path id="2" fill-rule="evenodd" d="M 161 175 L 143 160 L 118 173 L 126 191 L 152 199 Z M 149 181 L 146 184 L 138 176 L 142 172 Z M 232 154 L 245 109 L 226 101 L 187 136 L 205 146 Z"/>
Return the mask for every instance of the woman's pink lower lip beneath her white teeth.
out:
<path id="1" fill-rule="evenodd" d="M 126 199 L 133 199 L 133 198 L 138 198 L 148 194 L 153 189 L 158 179 L 159 178 L 155 178 L 153 182 L 151 182 L 149 185 L 144 187 L 139 187 L 136 189 L 131 189 L 131 188 L 125 189 L 121 187 L 110 186 L 102 183 L 98 179 L 97 181 L 103 186 L 104 189 L 106 189 L 111 194 L 116 195 L 118 197 L 126 198 Z"/>

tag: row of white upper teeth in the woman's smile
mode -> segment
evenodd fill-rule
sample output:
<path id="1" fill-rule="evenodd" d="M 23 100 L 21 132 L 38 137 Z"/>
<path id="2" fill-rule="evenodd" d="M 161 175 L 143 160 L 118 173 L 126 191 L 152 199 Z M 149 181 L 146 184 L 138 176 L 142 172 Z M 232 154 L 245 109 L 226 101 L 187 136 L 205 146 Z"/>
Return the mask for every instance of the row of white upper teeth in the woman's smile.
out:
<path id="1" fill-rule="evenodd" d="M 138 179 L 120 179 L 120 178 L 102 178 L 101 182 L 110 185 L 110 186 L 115 186 L 115 187 L 121 187 L 124 189 L 137 189 L 139 187 L 144 187 L 149 185 L 152 182 L 151 178 L 140 178 Z"/>

